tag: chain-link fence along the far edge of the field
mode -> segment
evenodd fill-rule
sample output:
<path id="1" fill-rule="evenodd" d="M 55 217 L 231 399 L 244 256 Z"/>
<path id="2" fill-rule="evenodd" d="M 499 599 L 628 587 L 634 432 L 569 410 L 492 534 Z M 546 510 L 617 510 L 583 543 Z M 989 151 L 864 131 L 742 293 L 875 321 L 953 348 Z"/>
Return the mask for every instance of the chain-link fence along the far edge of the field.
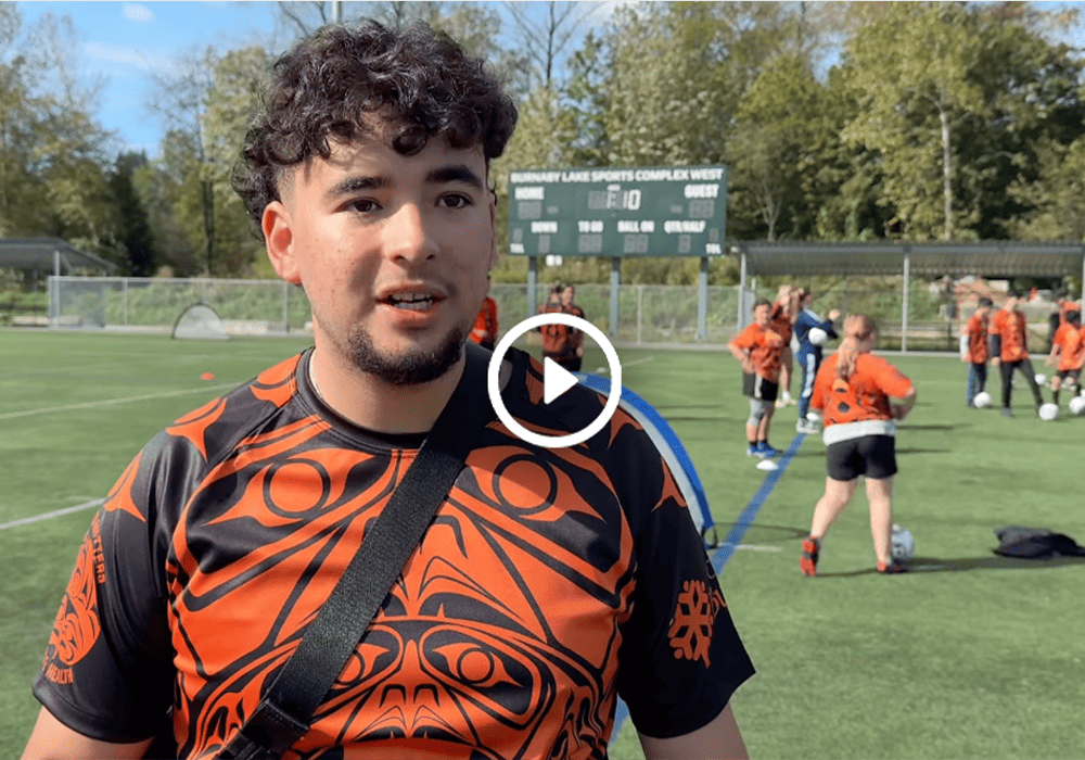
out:
<path id="1" fill-rule="evenodd" d="M 705 334 L 699 334 L 699 291 L 693 286 L 623 284 L 617 288 L 617 324 L 610 325 L 611 286 L 578 284 L 576 302 L 587 318 L 617 343 L 723 346 L 750 321 L 758 297 L 771 301 L 775 289 L 748 290 L 740 309 L 738 286 L 706 289 Z M 218 280 L 112 277 L 50 277 L 49 324 L 64 328 L 168 332 L 180 314 L 195 303 L 215 309 L 230 334 L 290 334 L 311 329 L 305 291 L 281 280 Z M 526 283 L 494 283 L 502 331 L 535 314 L 546 288 L 532 303 Z M 815 308 L 861 312 L 878 320 L 885 349 L 898 347 L 903 318 L 899 284 L 873 287 L 858 278 L 817 293 Z M 908 347 L 954 351 L 958 318 L 945 299 L 923 282 L 908 294 Z M 742 312 L 745 312 L 743 314 Z"/>

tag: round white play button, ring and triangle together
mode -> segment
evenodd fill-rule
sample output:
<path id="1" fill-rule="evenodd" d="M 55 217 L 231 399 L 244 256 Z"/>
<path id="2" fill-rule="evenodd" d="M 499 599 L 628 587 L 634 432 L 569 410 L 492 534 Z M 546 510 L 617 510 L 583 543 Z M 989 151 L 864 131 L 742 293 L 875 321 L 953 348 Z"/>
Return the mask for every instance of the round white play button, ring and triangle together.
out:
<path id="1" fill-rule="evenodd" d="M 524 426 L 520 425 L 509 410 L 505 408 L 505 402 L 501 401 L 501 362 L 505 359 L 505 355 L 508 353 L 512 344 L 525 332 L 531 330 L 537 330 L 544 325 L 565 325 L 577 329 L 596 342 L 596 344 L 602 349 L 603 355 L 607 357 L 607 364 L 610 367 L 610 393 L 607 394 L 607 403 L 603 405 L 603 410 L 599 413 L 590 425 L 588 425 L 583 430 L 577 430 L 576 432 L 569 433 L 567 435 L 542 435 L 536 433 L 533 430 L 528 430 Z M 550 404 L 556 398 L 561 396 L 563 393 L 569 391 L 573 385 L 578 382 L 576 376 L 570 372 L 567 369 L 562 367 L 560 364 L 551 358 L 545 358 L 542 360 L 542 403 Z M 587 441 L 589 438 L 602 430 L 610 418 L 614 416 L 614 411 L 617 409 L 618 403 L 622 401 L 622 364 L 618 362 L 617 352 L 614 351 L 614 346 L 611 342 L 607 340 L 607 335 L 598 327 L 589 322 L 587 319 L 582 319 L 580 317 L 574 317 L 572 314 L 563 313 L 547 313 L 537 314 L 534 317 L 528 317 L 522 322 L 518 324 L 507 333 L 505 337 L 498 341 L 497 345 L 494 347 L 494 355 L 489 359 L 489 367 L 486 370 L 486 392 L 489 394 L 489 403 L 494 407 L 494 411 L 497 413 L 498 419 L 500 419 L 505 427 L 512 431 L 512 433 L 527 443 L 533 443 L 536 446 L 542 446 L 544 448 L 561 448 L 563 446 L 575 446 L 578 443 Z"/>

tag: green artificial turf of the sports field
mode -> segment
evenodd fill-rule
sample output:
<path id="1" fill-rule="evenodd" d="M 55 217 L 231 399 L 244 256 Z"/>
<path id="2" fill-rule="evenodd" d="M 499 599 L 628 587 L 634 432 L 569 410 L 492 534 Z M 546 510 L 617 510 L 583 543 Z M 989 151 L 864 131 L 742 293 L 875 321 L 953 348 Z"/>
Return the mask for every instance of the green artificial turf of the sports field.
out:
<path id="1" fill-rule="evenodd" d="M 305 345 L 0 331 L 0 524 L 101 498 L 165 425 Z M 719 351 L 618 353 L 624 384 L 686 445 L 723 539 L 766 477 L 744 453 L 738 363 Z M 956 357 L 890 358 L 919 391 L 897 436 L 895 489 L 914 570 L 873 572 L 860 487 L 825 541 L 819 577 L 800 575 L 825 479 L 824 445 L 803 440 L 720 573 L 758 671 L 732 700 L 750 752 L 1085 757 L 1085 561 L 991 552 L 994 529 L 1014 523 L 1085 544 L 1085 417 L 1067 415 L 1063 394 L 1063 417 L 1043 422 L 1024 388 L 1012 419 L 967 409 Z M 604 364 L 589 350 L 586 369 Z M 777 410 L 777 448 L 792 444 L 794 422 L 794 407 Z M 92 514 L 0 530 L 0 757 L 17 757 L 29 734 L 29 684 Z M 611 757 L 642 757 L 628 723 Z"/>

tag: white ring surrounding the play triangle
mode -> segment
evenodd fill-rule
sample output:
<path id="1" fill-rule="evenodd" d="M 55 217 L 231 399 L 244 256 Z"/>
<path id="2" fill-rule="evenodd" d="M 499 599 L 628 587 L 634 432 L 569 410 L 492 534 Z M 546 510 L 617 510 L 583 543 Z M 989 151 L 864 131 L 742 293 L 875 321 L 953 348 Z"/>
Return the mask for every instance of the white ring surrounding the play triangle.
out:
<path id="1" fill-rule="evenodd" d="M 607 396 L 607 403 L 603 405 L 603 410 L 592 420 L 591 425 L 584 428 L 583 430 L 570 433 L 567 435 L 541 435 L 532 430 L 528 430 L 524 426 L 520 425 L 509 410 L 505 408 L 505 402 L 501 401 L 501 362 L 505 360 L 505 355 L 512 347 L 512 343 L 524 334 L 528 330 L 534 330 L 542 325 L 565 325 L 567 327 L 575 327 L 577 330 L 588 333 L 591 339 L 603 350 L 603 354 L 607 356 L 607 364 L 610 366 L 611 371 L 611 389 L 610 394 Z M 494 349 L 494 355 L 489 359 L 489 367 L 486 369 L 486 393 L 489 395 L 490 406 L 494 407 L 494 411 L 497 413 L 498 419 L 505 422 L 505 426 L 512 431 L 512 433 L 527 443 L 534 443 L 536 446 L 542 446 L 544 448 L 563 448 L 565 446 L 575 446 L 578 443 L 587 441 L 589 438 L 598 433 L 603 427 L 610 421 L 610 418 L 614 416 L 614 411 L 617 410 L 618 402 L 622 401 L 622 363 L 617 358 L 617 352 L 614 351 L 614 346 L 611 342 L 607 340 L 607 335 L 598 327 L 589 322 L 587 319 L 582 319 L 580 317 L 574 317 L 572 314 L 562 313 L 547 313 L 537 314 L 534 317 L 528 317 L 522 322 L 518 324 L 514 328 L 505 333 L 505 337 L 498 341 L 497 346 Z"/>

